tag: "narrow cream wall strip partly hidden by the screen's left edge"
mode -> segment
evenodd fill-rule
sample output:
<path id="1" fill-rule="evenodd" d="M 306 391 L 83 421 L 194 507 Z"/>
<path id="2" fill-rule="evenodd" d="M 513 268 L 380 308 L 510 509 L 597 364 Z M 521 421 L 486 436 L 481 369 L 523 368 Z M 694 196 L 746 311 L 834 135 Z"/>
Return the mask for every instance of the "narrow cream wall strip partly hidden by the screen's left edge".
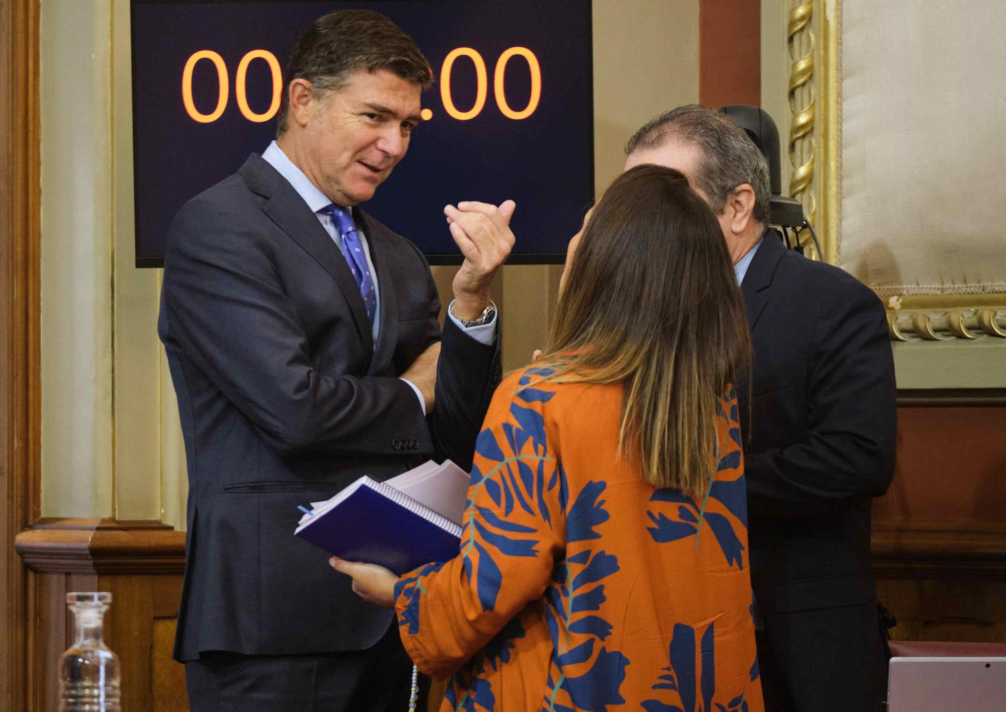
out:
<path id="1" fill-rule="evenodd" d="M 158 271 L 135 266 L 129 2 L 113 5 L 115 516 L 160 519 Z"/>

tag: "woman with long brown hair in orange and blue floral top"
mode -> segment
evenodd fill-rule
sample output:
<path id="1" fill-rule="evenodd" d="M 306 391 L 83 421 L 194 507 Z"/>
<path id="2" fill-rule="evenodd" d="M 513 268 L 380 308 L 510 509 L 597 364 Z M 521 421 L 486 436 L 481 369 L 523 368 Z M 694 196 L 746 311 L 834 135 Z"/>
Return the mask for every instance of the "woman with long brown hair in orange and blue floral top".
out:
<path id="1" fill-rule="evenodd" d="M 731 383 L 749 357 L 719 226 L 677 171 L 618 178 L 569 243 L 548 348 L 476 444 L 461 551 L 394 605 L 443 709 L 756 712 L 746 505 Z"/>

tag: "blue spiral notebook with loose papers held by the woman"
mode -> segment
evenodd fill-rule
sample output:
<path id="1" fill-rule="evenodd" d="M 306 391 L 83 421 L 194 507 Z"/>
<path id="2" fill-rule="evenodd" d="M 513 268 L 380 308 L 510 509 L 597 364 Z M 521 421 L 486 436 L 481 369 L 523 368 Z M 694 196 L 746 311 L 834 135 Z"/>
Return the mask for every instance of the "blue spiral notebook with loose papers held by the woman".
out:
<path id="1" fill-rule="evenodd" d="M 386 482 L 361 477 L 312 503 L 294 534 L 347 561 L 401 575 L 458 555 L 468 482 L 451 461 L 431 461 Z"/>

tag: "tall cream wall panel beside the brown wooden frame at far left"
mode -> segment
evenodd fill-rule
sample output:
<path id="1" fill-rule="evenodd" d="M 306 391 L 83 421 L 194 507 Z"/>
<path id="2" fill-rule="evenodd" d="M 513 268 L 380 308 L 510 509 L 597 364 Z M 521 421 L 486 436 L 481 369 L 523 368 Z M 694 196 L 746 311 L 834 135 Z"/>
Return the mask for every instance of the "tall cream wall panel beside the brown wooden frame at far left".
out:
<path id="1" fill-rule="evenodd" d="M 42 516 L 112 514 L 111 12 L 42 0 Z"/>

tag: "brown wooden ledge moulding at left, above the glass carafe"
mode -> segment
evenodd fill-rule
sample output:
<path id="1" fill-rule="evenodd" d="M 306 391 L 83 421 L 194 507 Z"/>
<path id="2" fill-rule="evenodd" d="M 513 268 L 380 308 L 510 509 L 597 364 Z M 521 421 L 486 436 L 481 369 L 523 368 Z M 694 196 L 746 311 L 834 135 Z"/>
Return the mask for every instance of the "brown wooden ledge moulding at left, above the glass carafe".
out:
<path id="1" fill-rule="evenodd" d="M 15 548 L 35 573 L 185 572 L 185 532 L 160 522 L 41 519 L 17 536 Z"/>

